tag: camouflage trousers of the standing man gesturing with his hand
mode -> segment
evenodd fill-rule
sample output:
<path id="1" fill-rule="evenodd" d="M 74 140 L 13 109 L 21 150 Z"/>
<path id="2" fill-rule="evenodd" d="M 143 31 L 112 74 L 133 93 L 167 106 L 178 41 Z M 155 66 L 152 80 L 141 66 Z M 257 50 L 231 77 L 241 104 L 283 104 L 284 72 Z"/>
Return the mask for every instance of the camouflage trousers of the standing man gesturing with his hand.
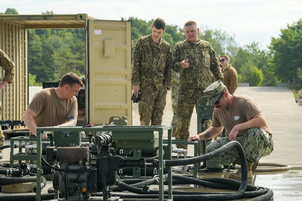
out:
<path id="1" fill-rule="evenodd" d="M 203 90 L 204 89 L 182 89 L 178 91 L 178 102 L 176 107 L 178 121 L 175 133 L 175 140 L 187 140 L 189 138 L 189 129 L 194 106 L 195 109 L 197 109 L 198 100 L 202 96 L 204 96 Z M 207 105 L 207 99 L 202 100 L 202 105 Z M 212 120 L 205 121 L 205 130 L 207 130 L 211 126 L 211 122 Z M 211 139 L 209 141 L 211 141 Z M 179 149 L 188 149 L 188 145 L 185 144 L 176 144 L 176 147 Z"/>

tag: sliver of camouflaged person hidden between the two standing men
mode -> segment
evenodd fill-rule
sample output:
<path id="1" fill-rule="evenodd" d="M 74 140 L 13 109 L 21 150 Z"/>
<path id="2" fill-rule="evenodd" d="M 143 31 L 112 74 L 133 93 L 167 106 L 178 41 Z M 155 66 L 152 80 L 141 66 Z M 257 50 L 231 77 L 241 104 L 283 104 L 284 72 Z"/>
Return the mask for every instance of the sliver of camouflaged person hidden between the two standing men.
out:
<path id="1" fill-rule="evenodd" d="M 171 100 L 172 100 L 172 111 L 173 111 L 173 118 L 171 121 L 172 126 L 172 137 L 175 137 L 176 127 L 177 127 L 177 98 L 178 98 L 178 83 L 179 83 L 179 73 L 176 73 L 172 70 L 172 81 L 171 81 Z"/>

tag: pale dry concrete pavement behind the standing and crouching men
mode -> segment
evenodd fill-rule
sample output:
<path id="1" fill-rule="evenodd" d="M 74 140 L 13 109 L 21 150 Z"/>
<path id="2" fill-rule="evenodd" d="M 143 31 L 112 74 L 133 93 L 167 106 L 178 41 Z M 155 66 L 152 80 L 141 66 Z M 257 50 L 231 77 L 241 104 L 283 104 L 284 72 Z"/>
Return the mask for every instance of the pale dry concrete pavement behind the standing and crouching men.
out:
<path id="1" fill-rule="evenodd" d="M 275 150 L 260 162 L 289 164 L 292 167 L 302 166 L 302 107 L 297 105 L 294 95 L 288 87 L 238 87 L 237 95 L 252 97 L 265 115 L 267 124 L 272 131 Z M 163 115 L 162 125 L 170 125 L 172 109 L 170 96 Z M 140 117 L 133 112 L 134 126 L 140 125 Z M 194 109 L 191 119 L 190 136 L 197 134 L 197 115 Z M 167 136 L 164 136 L 167 138 Z M 189 146 L 188 153 L 193 152 Z"/>

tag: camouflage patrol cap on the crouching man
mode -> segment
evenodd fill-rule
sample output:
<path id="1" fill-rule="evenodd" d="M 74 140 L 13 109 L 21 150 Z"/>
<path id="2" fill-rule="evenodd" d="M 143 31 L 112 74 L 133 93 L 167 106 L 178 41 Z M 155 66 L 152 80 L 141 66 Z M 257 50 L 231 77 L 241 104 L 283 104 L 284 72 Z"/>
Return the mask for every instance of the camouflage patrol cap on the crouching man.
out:
<path id="1" fill-rule="evenodd" d="M 212 84 L 208 85 L 204 90 L 204 95 L 208 97 L 207 104 L 214 105 L 223 89 L 224 85 L 221 80 L 216 80 Z"/>

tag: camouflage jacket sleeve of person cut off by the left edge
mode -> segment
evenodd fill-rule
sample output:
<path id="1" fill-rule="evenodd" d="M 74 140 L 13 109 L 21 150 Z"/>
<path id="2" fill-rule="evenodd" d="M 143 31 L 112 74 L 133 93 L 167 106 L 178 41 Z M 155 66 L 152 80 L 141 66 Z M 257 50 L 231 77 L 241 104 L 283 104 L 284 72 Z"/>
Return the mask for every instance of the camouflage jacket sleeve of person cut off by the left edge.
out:
<path id="1" fill-rule="evenodd" d="M 15 64 L 11 61 L 11 59 L 0 49 L 0 66 L 5 71 L 4 77 L 0 74 L 0 82 L 8 81 L 11 84 L 14 80 L 15 75 Z"/>

